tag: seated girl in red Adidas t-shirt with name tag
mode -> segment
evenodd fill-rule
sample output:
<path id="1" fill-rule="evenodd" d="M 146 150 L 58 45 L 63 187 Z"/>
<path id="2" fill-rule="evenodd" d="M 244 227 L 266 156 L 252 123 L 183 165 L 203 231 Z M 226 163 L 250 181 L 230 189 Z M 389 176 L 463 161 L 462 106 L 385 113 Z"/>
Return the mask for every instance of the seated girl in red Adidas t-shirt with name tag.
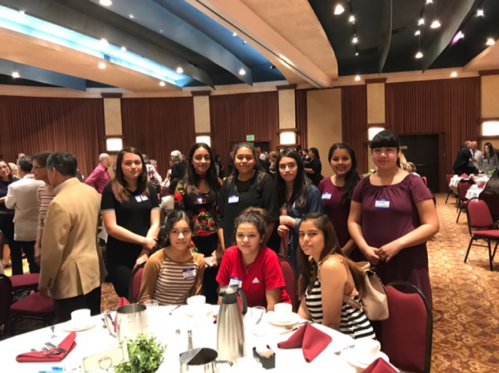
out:
<path id="1" fill-rule="evenodd" d="M 273 311 L 276 303 L 291 303 L 291 300 L 284 290 L 279 258 L 263 244 L 269 221 L 266 214 L 263 209 L 249 207 L 237 216 L 237 246 L 225 250 L 217 282 L 220 286 L 242 288 L 248 307 L 259 305 Z"/>

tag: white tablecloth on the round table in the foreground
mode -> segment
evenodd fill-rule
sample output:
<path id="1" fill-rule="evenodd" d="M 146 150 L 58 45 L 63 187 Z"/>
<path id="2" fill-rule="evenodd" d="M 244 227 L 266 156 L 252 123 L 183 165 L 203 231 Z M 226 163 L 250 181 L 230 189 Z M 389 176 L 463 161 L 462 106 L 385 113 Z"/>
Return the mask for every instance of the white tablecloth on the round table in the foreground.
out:
<path id="1" fill-rule="evenodd" d="M 182 311 L 185 310 L 184 306 L 173 312 L 172 316 L 169 316 L 168 312 L 170 312 L 172 308 L 172 306 L 159 307 L 153 309 L 153 311 L 148 314 L 150 330 L 153 330 L 155 335 L 157 335 L 160 340 L 165 343 L 171 342 L 174 338 L 175 330 L 180 329 L 180 341 L 185 342 L 184 350 L 187 350 L 187 330 L 191 329 L 193 347 L 210 347 L 216 350 L 217 325 L 213 324 L 212 315 L 195 320 L 192 317 L 185 315 L 185 311 Z M 1 372 L 36 373 L 43 370 L 50 371 L 51 367 L 63 367 L 65 372 L 71 372 L 71 369 L 79 366 L 83 357 L 109 350 L 110 348 L 118 345 L 118 342 L 113 337 L 110 337 L 108 331 L 103 328 L 101 316 L 102 315 L 93 317 L 93 319 L 96 320 L 96 326 L 89 330 L 76 333 L 77 345 L 75 349 L 68 354 L 66 359 L 63 359 L 62 362 L 18 363 L 16 362 L 16 355 L 21 352 L 29 352 L 31 348 L 40 350 L 45 342 L 52 342 L 57 345 L 61 342 L 61 340 L 63 340 L 64 337 L 66 337 L 66 335 L 68 335 L 68 332 L 63 331 L 63 324 L 56 325 L 57 339 L 50 339 L 51 330 L 46 327 L 1 341 Z M 352 340 L 351 337 L 343 335 L 336 330 L 330 329 L 329 327 L 314 324 L 314 327 L 317 327 L 317 329 L 331 335 L 333 340 L 331 344 L 326 347 L 326 350 L 319 354 L 313 362 L 307 363 L 304 360 L 301 350 L 279 350 L 279 348 L 277 348 L 277 343 L 287 340 L 292 333 L 280 335 L 279 333 L 282 332 L 284 328 L 269 324 L 265 317 L 262 320 L 262 325 L 264 325 L 263 329 L 265 331 L 265 336 L 262 337 L 260 341 L 267 343 L 267 345 L 269 345 L 272 350 L 276 352 L 276 368 L 272 369 L 272 372 L 331 372 L 331 369 L 333 368 L 334 372 L 356 372 L 356 369 L 346 362 L 344 355 L 334 354 L 334 352 L 352 345 L 354 340 Z M 253 333 L 249 330 L 246 330 L 245 334 L 247 356 L 252 356 L 252 347 L 254 347 L 256 343 L 256 337 L 254 337 Z M 163 362 L 163 365 L 158 370 L 158 373 L 178 372 L 178 362 L 172 362 L 172 359 L 173 357 L 168 355 L 167 347 L 165 352 L 165 362 Z M 224 369 L 222 372 L 225 372 L 226 370 L 228 372 L 238 372 L 235 367 L 232 367 L 232 369 Z M 110 369 L 110 372 L 111 371 L 112 369 Z M 73 372 L 79 373 L 80 370 L 73 370 Z M 262 369 L 262 372 L 267 371 Z M 257 373 L 257 371 L 252 373 Z"/>

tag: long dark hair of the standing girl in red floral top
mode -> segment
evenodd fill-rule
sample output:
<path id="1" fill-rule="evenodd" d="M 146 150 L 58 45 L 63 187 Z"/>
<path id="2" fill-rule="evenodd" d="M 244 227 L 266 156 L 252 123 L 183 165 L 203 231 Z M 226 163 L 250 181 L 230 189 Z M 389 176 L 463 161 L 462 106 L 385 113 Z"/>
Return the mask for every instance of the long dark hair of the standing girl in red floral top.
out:
<path id="1" fill-rule="evenodd" d="M 210 187 L 209 194 L 213 194 L 215 196 L 216 203 L 217 195 L 220 191 L 220 183 L 218 182 L 217 168 L 215 167 L 215 157 L 213 157 L 210 145 L 205 144 L 205 142 L 196 142 L 195 145 L 192 145 L 189 151 L 189 166 L 187 167 L 187 172 L 185 172 L 183 180 L 184 187 L 187 192 L 187 199 L 190 204 L 196 204 L 197 202 L 198 193 L 196 189 L 200 185 L 201 177 L 197 174 L 194 166 L 192 166 L 192 157 L 194 157 L 196 150 L 200 148 L 206 149 L 208 154 L 210 154 L 210 167 L 207 169 L 205 180 L 208 187 Z"/>

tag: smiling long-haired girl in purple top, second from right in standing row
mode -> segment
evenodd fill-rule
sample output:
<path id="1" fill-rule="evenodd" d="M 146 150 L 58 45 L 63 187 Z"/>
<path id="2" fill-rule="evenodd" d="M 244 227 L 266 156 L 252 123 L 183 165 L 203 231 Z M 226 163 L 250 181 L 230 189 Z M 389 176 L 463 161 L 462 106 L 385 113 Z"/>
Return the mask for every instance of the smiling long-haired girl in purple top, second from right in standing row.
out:
<path id="1" fill-rule="evenodd" d="M 350 237 L 347 226 L 351 195 L 360 181 L 355 151 L 346 142 L 336 142 L 329 149 L 328 159 L 334 175 L 322 179 L 319 183 L 326 214 L 336 231 L 341 252 L 354 261 L 360 261 L 361 253 Z"/>

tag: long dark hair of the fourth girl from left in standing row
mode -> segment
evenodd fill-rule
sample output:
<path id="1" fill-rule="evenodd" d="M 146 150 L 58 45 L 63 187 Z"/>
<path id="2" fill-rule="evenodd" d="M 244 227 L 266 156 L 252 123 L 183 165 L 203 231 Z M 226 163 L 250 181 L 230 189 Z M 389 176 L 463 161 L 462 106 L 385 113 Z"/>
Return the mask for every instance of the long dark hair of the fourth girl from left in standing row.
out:
<path id="1" fill-rule="evenodd" d="M 294 178 L 293 192 L 289 199 L 286 198 L 286 182 L 282 179 L 281 172 L 279 172 L 279 162 L 281 162 L 282 157 L 289 157 L 297 162 L 297 176 Z M 298 209 L 302 209 L 307 204 L 307 191 L 312 182 L 308 177 L 305 177 L 302 157 L 299 156 L 295 149 L 287 147 L 277 156 L 275 184 L 279 206 L 286 205 L 289 209 L 295 204 Z"/>

